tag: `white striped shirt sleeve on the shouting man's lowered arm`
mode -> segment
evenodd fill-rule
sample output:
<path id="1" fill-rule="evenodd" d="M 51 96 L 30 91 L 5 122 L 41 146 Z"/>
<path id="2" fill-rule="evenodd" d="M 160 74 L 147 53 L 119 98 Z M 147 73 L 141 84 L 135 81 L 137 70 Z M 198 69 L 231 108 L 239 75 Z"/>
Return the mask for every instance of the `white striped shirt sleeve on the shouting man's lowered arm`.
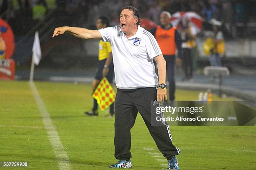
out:
<path id="1" fill-rule="evenodd" d="M 148 56 L 149 58 L 154 58 L 156 56 L 159 56 L 162 53 L 158 43 L 156 42 L 156 38 L 154 38 L 154 36 L 149 33 L 148 31 L 145 32 L 145 37 L 146 37 L 146 49 L 148 52 Z"/>

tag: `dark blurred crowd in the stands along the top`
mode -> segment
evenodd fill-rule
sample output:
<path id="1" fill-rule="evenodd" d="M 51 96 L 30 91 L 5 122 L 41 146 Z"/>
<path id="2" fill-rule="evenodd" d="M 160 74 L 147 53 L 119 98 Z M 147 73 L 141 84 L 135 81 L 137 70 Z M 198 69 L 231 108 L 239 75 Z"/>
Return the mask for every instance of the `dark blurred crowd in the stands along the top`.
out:
<path id="1" fill-rule="evenodd" d="M 231 34 L 238 36 L 243 36 L 247 23 L 256 23 L 254 0 L 0 0 L 0 16 L 22 35 L 51 10 L 55 10 L 59 24 L 94 28 L 99 16 L 108 17 L 110 25 L 118 24 L 124 6 L 138 8 L 142 18 L 156 24 L 163 10 L 171 14 L 194 11 L 205 20 L 223 22 Z"/>

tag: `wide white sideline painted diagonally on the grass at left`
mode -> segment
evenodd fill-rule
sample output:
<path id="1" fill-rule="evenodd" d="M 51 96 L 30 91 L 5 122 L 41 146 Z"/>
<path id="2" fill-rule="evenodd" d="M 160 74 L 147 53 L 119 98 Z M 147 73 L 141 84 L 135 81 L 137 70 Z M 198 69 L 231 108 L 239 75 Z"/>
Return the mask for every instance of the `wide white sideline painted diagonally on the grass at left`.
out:
<path id="1" fill-rule="evenodd" d="M 44 101 L 41 99 L 35 84 L 33 82 L 29 82 L 29 86 L 33 93 L 33 97 L 36 101 L 37 107 L 41 113 L 44 122 L 44 127 L 48 134 L 48 138 L 51 142 L 51 146 L 53 147 L 54 154 L 58 160 L 58 167 L 60 170 L 71 170 L 72 167 L 69 163 L 67 152 L 64 150 L 64 147 L 59 140 L 59 134 L 56 131 L 54 125 L 52 124 L 50 114 L 46 110 Z"/>

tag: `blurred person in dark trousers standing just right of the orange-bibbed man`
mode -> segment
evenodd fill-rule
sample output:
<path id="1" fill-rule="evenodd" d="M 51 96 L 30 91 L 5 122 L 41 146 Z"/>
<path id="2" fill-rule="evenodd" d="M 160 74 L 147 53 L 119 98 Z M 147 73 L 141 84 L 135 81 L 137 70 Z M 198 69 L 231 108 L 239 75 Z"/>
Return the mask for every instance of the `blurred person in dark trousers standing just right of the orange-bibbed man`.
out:
<path id="1" fill-rule="evenodd" d="M 196 46 L 195 39 L 197 30 L 190 25 L 189 18 L 184 18 L 181 25 L 181 39 L 182 39 L 182 59 L 184 78 L 183 81 L 191 80 L 193 78 L 193 56 L 192 48 Z"/>

